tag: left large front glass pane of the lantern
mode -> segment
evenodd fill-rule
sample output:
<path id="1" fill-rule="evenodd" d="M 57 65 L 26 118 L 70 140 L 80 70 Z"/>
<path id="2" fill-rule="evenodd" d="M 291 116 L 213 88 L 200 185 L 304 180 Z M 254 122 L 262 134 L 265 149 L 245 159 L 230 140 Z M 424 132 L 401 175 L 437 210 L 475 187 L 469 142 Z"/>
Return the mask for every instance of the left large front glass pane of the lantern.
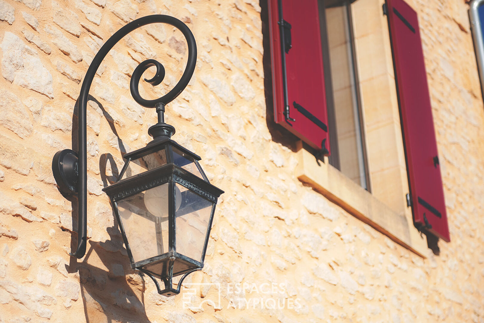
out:
<path id="1" fill-rule="evenodd" d="M 134 261 L 168 251 L 168 183 L 118 202 Z"/>

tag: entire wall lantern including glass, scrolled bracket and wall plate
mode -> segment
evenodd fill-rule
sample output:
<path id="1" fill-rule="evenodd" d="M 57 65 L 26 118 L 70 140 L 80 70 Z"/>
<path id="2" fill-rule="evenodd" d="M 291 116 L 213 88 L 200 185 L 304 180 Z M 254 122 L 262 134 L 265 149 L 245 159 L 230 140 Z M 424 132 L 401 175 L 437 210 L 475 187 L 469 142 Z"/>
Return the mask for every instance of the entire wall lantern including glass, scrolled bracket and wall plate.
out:
<path id="1" fill-rule="evenodd" d="M 109 38 L 94 57 L 84 77 L 78 102 L 79 152 L 66 149 L 52 161 L 59 189 L 78 197 L 77 250 L 71 256 L 82 258 L 87 242 L 87 147 L 86 107 L 89 89 L 97 68 L 109 50 L 129 32 L 151 23 L 178 28 L 188 44 L 188 61 L 178 84 L 156 100 L 145 100 L 138 82 L 146 69 L 156 66 L 156 75 L 145 81 L 158 85 L 165 68 L 155 60 L 141 62 L 133 72 L 130 89 L 143 107 L 156 108 L 158 123 L 148 133 L 153 138 L 144 148 L 124 154 L 124 167 L 117 182 L 103 190 L 109 196 L 120 226 L 131 266 L 151 277 L 160 294 L 178 294 L 183 279 L 203 267 L 213 214 L 218 197 L 224 193 L 210 184 L 198 161 L 200 157 L 171 140 L 175 128 L 165 123 L 165 105 L 186 87 L 195 70 L 197 46 L 188 27 L 167 15 L 149 15 L 122 27 Z M 126 175 L 126 176 L 125 176 Z M 175 289 L 172 277 L 183 275 Z M 163 280 L 163 290 L 155 279 Z"/>

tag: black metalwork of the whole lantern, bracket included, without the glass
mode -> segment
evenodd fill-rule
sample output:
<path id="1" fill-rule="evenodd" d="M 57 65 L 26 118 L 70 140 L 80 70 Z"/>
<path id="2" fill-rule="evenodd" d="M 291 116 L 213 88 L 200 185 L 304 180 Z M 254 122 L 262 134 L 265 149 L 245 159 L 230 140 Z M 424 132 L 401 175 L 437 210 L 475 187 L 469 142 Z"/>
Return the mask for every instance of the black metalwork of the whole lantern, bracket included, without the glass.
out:
<path id="1" fill-rule="evenodd" d="M 52 172 L 54 175 L 54 178 L 56 180 L 56 183 L 59 186 L 59 190 L 61 191 L 62 194 L 65 196 L 76 196 L 78 200 L 78 209 L 77 209 L 77 216 L 78 216 L 78 229 L 77 229 L 77 247 L 75 252 L 71 252 L 70 255 L 76 258 L 82 258 L 85 253 L 86 253 L 86 246 L 87 246 L 87 103 L 88 103 L 88 96 L 89 96 L 89 90 L 91 88 L 92 80 L 94 76 L 96 75 L 96 72 L 101 65 L 101 62 L 104 60 L 106 57 L 107 53 L 112 49 L 114 45 L 116 45 L 124 36 L 129 34 L 131 31 L 134 31 L 140 27 L 152 24 L 152 23 L 165 23 L 168 25 L 171 25 L 178 30 L 181 31 L 181 33 L 184 35 L 187 45 L 188 45 L 188 59 L 186 63 L 185 70 L 181 76 L 180 81 L 173 87 L 172 90 L 170 90 L 168 93 L 166 93 L 164 96 L 155 99 L 155 100 L 146 100 L 141 95 L 139 94 L 138 91 L 138 85 L 139 81 L 142 77 L 142 74 L 151 66 L 156 67 L 156 74 L 151 78 L 151 79 L 144 79 L 146 82 L 150 83 L 153 86 L 156 86 L 160 84 L 163 81 L 163 78 L 165 77 L 165 68 L 163 64 L 160 62 L 149 59 L 146 61 L 143 61 L 139 63 L 139 65 L 135 68 L 131 81 L 130 81 L 130 92 L 135 101 L 146 108 L 155 108 L 157 115 L 158 115 L 158 123 L 152 125 L 148 129 L 148 133 L 150 134 L 151 137 L 153 137 L 153 140 L 144 148 L 138 149 L 134 152 L 127 153 L 123 157 L 126 159 L 126 163 L 123 166 L 123 169 L 121 170 L 120 175 L 117 178 L 117 183 L 109 185 L 105 187 L 103 190 L 105 191 L 115 191 L 118 187 L 121 187 L 123 183 L 126 183 L 128 181 L 134 181 L 133 185 L 138 185 L 138 188 L 141 189 L 140 183 L 136 183 L 136 181 L 140 181 L 140 178 L 128 178 L 121 180 L 121 177 L 123 176 L 124 172 L 126 171 L 126 168 L 128 167 L 128 164 L 130 161 L 135 159 L 136 156 L 140 154 L 149 154 L 150 151 L 156 151 L 157 149 L 160 148 L 161 145 L 166 144 L 171 146 L 176 147 L 177 149 L 181 150 L 185 154 L 190 155 L 194 160 L 196 161 L 196 165 L 198 170 L 200 171 L 201 174 L 203 174 L 204 179 L 198 178 L 196 175 L 191 174 L 187 172 L 184 169 L 181 169 L 180 167 L 176 166 L 173 164 L 173 161 L 171 163 L 168 163 L 167 165 L 164 165 L 163 167 L 159 167 L 156 169 L 151 169 L 148 170 L 145 173 L 149 172 L 160 172 L 160 171 L 165 171 L 167 173 L 170 173 L 171 178 L 170 178 L 170 189 L 174 191 L 174 183 L 180 182 L 180 179 L 185 178 L 188 180 L 188 182 L 195 182 L 198 185 L 209 185 L 206 188 L 207 194 L 203 195 L 205 198 L 213 202 L 212 205 L 212 213 L 210 217 L 210 223 L 208 227 L 208 231 L 205 237 L 205 245 L 202 250 L 202 258 L 201 261 L 195 261 L 192 260 L 188 257 L 185 257 L 181 254 L 176 253 L 174 250 L 170 250 L 169 254 L 167 257 L 169 257 L 169 268 L 168 268 L 168 275 L 165 276 L 160 276 L 156 275 L 154 273 L 151 273 L 147 271 L 146 269 L 143 269 L 142 266 L 143 264 L 146 264 L 147 262 L 150 261 L 157 261 L 160 260 L 162 256 L 157 256 L 150 258 L 145 261 L 140 261 L 138 263 L 134 262 L 133 255 L 131 253 L 126 235 L 123 233 L 122 237 L 124 240 L 124 244 L 126 246 L 128 256 L 130 258 L 132 267 L 134 269 L 139 270 L 140 272 L 145 273 L 151 279 L 154 281 L 156 288 L 160 294 L 164 294 L 167 296 L 177 294 L 180 292 L 181 288 L 181 282 L 183 279 L 190 274 L 191 272 L 195 270 L 200 270 L 203 267 L 203 261 L 205 258 L 205 252 L 207 248 L 207 243 L 209 239 L 209 233 L 210 233 L 210 228 L 212 226 L 212 219 L 213 219 L 213 212 L 215 208 L 215 204 L 217 201 L 218 196 L 223 193 L 222 190 L 216 188 L 215 186 L 211 185 L 205 176 L 203 170 L 198 164 L 198 160 L 200 160 L 200 157 L 197 156 L 196 154 L 190 152 L 189 150 L 185 149 L 184 147 L 178 145 L 175 141 L 171 140 L 171 136 L 175 133 L 175 128 L 169 124 L 165 123 L 165 118 L 164 118 L 164 113 L 165 113 L 165 106 L 169 102 L 173 101 L 180 93 L 186 88 L 188 85 L 188 82 L 190 81 L 194 71 L 195 71 L 195 64 L 197 61 L 197 45 L 195 42 L 195 37 L 193 36 L 193 33 L 190 31 L 190 29 L 179 19 L 169 16 L 169 15 L 148 15 L 144 16 L 141 18 L 138 18 L 127 25 L 123 26 L 120 30 L 116 31 L 107 41 L 106 43 L 101 46 L 99 49 L 98 53 L 95 55 L 94 59 L 92 60 L 88 71 L 86 72 L 86 75 L 84 76 L 84 80 L 82 82 L 80 94 L 79 94 L 79 99 L 78 99 L 78 152 L 76 153 L 73 150 L 70 149 L 65 149 L 62 151 L 57 152 L 54 155 L 54 158 L 52 160 Z M 171 148 L 170 148 L 171 149 Z M 136 176 L 135 176 L 136 177 Z M 120 181 L 121 180 L 121 181 Z M 181 185 L 183 185 L 181 183 Z M 186 185 L 186 184 L 185 184 Z M 143 185 L 142 185 L 143 186 Z M 144 185 L 146 187 L 146 185 Z M 190 187 L 187 187 L 190 189 Z M 212 191 L 212 193 L 210 193 Z M 200 193 L 200 192 L 196 192 Z M 169 208 L 170 210 L 174 208 L 174 203 L 173 199 L 169 199 Z M 118 213 L 118 207 L 117 207 L 117 200 L 116 198 L 111 198 L 111 203 L 113 204 L 113 208 L 115 210 L 115 215 L 118 219 L 118 223 L 120 225 L 120 229 L 122 232 L 124 232 L 122 228 L 122 222 L 120 221 L 119 213 Z M 176 228 L 169 228 L 170 231 L 172 231 L 173 234 L 170 234 L 169 240 L 170 241 L 170 246 L 173 246 L 175 241 L 175 229 Z M 184 261 L 192 263 L 194 266 L 197 268 L 195 269 L 190 269 L 186 272 L 180 273 L 183 274 L 181 277 L 180 281 L 178 282 L 178 288 L 173 289 L 172 288 L 172 275 L 173 275 L 173 262 L 175 261 L 175 256 L 178 257 L 179 259 L 183 259 Z M 166 255 L 163 257 L 166 258 Z M 145 263 L 146 262 L 146 263 Z M 170 269 L 171 268 L 171 269 Z M 160 289 L 160 285 L 156 281 L 155 277 L 158 277 L 162 279 L 165 283 L 165 289 Z"/>

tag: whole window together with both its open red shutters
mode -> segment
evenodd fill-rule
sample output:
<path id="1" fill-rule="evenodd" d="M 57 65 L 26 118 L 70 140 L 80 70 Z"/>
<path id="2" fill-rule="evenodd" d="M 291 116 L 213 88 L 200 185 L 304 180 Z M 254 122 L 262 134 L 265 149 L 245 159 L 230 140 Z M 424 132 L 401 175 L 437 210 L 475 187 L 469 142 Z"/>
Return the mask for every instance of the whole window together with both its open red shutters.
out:
<path id="1" fill-rule="evenodd" d="M 416 12 L 403 0 L 386 0 L 386 16 L 377 0 L 268 7 L 275 122 L 399 216 L 409 192 L 410 223 L 450 241 Z"/>

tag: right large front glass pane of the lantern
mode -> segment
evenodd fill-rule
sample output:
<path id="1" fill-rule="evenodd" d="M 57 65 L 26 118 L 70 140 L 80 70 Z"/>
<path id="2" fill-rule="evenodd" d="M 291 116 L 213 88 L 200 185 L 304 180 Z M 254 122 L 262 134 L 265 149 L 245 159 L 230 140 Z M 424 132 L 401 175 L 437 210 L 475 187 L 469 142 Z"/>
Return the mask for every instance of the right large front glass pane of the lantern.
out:
<path id="1" fill-rule="evenodd" d="M 175 212 L 176 251 L 193 260 L 203 261 L 213 203 L 178 183 L 175 187 L 181 192 L 181 206 Z M 178 195 L 176 199 L 179 199 Z"/>

